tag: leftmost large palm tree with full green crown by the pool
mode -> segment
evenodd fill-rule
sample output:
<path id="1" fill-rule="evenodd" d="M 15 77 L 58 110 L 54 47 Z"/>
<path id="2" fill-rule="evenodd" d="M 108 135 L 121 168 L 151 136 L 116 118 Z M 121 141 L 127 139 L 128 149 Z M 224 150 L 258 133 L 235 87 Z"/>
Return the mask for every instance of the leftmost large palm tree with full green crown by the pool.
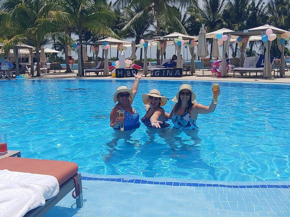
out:
<path id="1" fill-rule="evenodd" d="M 1 6 L 1 18 L 5 24 L 2 30 L 8 30 L 13 37 L 5 41 L 4 47 L 17 43 L 28 43 L 35 47 L 37 60 L 37 75 L 40 76 L 39 49 L 46 38 L 71 38 L 59 33 L 58 23 L 48 18 L 48 13 L 54 4 L 46 0 L 4 0 Z"/>

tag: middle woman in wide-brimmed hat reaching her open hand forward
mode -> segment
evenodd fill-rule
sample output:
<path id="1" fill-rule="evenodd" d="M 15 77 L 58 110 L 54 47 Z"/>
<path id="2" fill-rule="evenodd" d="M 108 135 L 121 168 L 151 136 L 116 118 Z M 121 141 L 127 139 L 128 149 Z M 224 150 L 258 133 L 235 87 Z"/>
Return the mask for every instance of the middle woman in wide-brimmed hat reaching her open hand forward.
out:
<path id="1" fill-rule="evenodd" d="M 165 111 L 160 106 L 164 106 L 167 102 L 167 97 L 160 95 L 156 89 L 142 95 L 142 100 L 145 103 L 146 114 L 141 121 L 146 125 L 154 128 L 164 128 L 169 124 L 165 123 Z"/>

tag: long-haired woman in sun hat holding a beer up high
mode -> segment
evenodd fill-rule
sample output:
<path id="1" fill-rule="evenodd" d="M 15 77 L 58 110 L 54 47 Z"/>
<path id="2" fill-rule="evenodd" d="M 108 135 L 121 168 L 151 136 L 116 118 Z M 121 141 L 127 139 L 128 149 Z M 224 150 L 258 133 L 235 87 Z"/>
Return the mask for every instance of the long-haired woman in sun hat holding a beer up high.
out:
<path id="1" fill-rule="evenodd" d="M 218 90 L 220 95 L 220 89 Z M 195 100 L 196 95 L 188 84 L 182 84 L 173 102 L 177 102 L 169 115 L 174 127 L 180 130 L 195 130 L 198 114 L 209 114 L 215 111 L 216 104 L 211 101 L 210 106 L 199 104 Z"/>

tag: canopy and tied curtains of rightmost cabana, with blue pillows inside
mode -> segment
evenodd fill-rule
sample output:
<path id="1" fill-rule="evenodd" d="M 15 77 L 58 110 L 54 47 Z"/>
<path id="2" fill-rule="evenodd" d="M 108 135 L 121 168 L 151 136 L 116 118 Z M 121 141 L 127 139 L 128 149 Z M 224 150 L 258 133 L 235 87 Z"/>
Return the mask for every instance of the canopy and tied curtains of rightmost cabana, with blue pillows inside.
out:
<path id="1" fill-rule="evenodd" d="M 286 33 L 287 35 L 290 35 L 290 32 L 286 30 L 279 29 L 277 27 L 271 26 L 271 25 L 262 25 L 259 27 L 251 28 L 248 30 L 243 31 L 236 31 L 236 32 L 225 32 L 224 35 L 228 35 L 228 38 L 231 38 L 231 35 L 234 36 L 240 36 L 242 38 L 245 38 L 244 42 L 242 43 L 242 46 L 240 47 L 241 51 L 241 57 L 240 57 L 240 66 L 243 66 L 244 62 L 244 51 L 247 47 L 248 41 L 251 36 L 263 36 L 266 35 L 266 30 L 271 29 L 273 34 L 283 34 Z M 281 66 L 280 66 L 280 76 L 282 77 L 285 74 L 285 61 L 284 61 L 284 46 L 279 47 L 280 39 L 276 39 L 278 43 L 278 48 L 281 49 Z M 227 42 L 227 41 L 226 41 Z M 281 44 L 281 43 L 280 43 Z M 264 68 L 263 68 L 263 76 L 264 78 L 271 77 L 271 61 L 270 61 L 270 49 L 272 46 L 272 41 L 265 41 L 264 42 L 264 48 L 265 48 L 265 57 L 264 57 Z M 223 45 L 223 51 L 229 49 L 229 43 L 224 43 Z M 225 63 L 226 57 L 223 55 L 222 59 L 222 76 L 226 76 L 226 67 Z"/>

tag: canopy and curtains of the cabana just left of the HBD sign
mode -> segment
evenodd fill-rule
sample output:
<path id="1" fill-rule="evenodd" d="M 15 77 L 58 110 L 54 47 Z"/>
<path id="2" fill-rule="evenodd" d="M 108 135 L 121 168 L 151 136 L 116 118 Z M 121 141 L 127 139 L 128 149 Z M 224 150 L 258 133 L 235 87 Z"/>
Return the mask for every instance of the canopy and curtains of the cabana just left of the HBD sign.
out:
<path id="1" fill-rule="evenodd" d="M 106 42 L 107 45 L 131 45 L 131 42 L 128 41 L 122 41 L 116 38 L 104 38 L 99 41 L 90 41 L 90 42 L 82 42 L 82 43 L 77 43 L 78 45 L 90 45 L 90 46 L 102 46 L 103 43 Z M 79 71 L 79 76 L 84 76 L 84 69 L 81 68 L 81 49 L 78 49 L 78 71 Z M 97 58 L 97 56 L 96 56 Z M 108 66 L 108 49 L 104 49 L 104 76 L 109 75 L 109 66 Z"/>

